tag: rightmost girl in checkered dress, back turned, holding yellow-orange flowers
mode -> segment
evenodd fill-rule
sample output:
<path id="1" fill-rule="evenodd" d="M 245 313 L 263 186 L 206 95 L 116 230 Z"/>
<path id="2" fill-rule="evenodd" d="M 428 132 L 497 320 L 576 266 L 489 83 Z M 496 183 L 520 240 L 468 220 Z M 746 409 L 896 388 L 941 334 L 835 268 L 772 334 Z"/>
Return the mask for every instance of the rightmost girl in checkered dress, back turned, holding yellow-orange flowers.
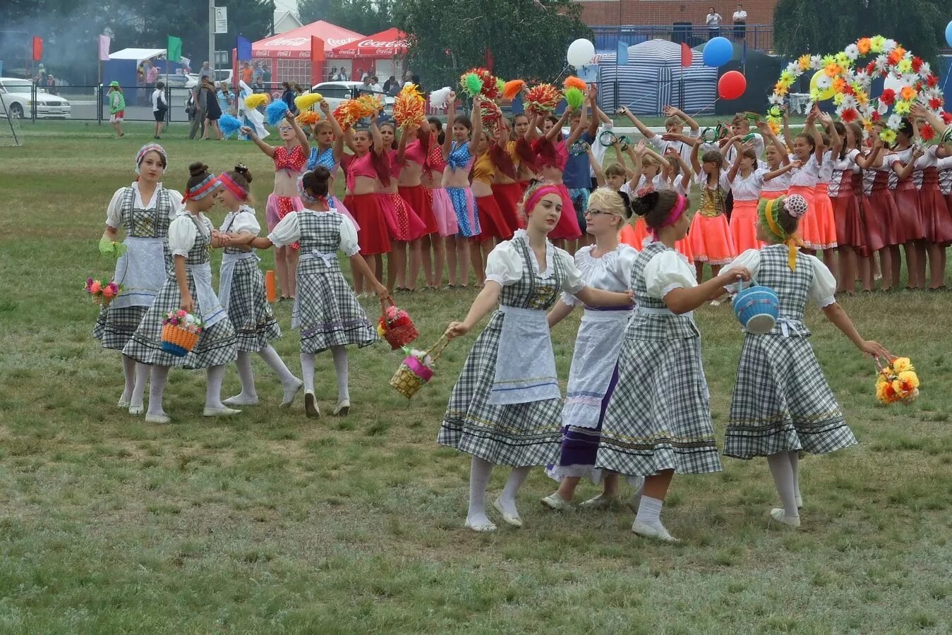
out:
<path id="1" fill-rule="evenodd" d="M 783 502 L 770 516 L 787 526 L 800 526 L 798 452 L 826 454 L 856 444 L 807 339 L 810 331 L 803 325 L 807 301 L 820 305 L 863 353 L 888 356 L 876 342 L 863 340 L 837 304 L 836 278 L 830 270 L 816 256 L 799 252 L 794 234 L 807 209 L 798 194 L 761 201 L 758 237 L 768 245 L 744 251 L 734 261 L 758 284 L 776 291 L 780 318 L 769 333 L 744 335 L 724 455 L 767 458 Z"/>

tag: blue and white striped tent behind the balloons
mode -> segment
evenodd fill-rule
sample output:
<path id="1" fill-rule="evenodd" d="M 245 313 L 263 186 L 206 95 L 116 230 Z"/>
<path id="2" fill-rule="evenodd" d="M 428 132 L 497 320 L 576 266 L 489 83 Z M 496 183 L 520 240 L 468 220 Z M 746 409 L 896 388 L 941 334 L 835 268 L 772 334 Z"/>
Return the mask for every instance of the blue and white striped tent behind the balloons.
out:
<path id="1" fill-rule="evenodd" d="M 627 106 L 635 114 L 658 115 L 667 105 L 688 114 L 713 113 L 718 69 L 705 67 L 699 53 L 681 66 L 681 45 L 648 40 L 628 47 L 628 64 L 618 66 L 614 51 L 599 55 L 599 105 L 614 112 Z"/>

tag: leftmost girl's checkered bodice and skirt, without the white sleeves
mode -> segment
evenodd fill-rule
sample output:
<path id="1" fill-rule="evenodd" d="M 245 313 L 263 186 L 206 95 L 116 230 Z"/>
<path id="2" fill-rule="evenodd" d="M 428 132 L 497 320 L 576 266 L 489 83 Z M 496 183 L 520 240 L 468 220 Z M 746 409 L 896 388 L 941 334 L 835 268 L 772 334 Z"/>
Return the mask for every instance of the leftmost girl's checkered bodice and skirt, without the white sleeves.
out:
<path id="1" fill-rule="evenodd" d="M 126 188 L 122 193 L 121 199 L 121 218 L 122 226 L 126 231 L 127 238 L 165 238 L 169 233 L 169 214 L 171 213 L 173 203 L 168 189 L 158 187 L 155 192 L 155 206 L 151 209 L 137 208 L 135 189 Z M 126 277 L 125 273 L 129 267 L 129 261 L 139 257 L 138 251 L 141 248 L 136 245 L 134 240 L 126 241 L 126 254 L 120 257 L 116 263 L 116 271 L 113 274 L 113 280 L 123 285 Z M 171 254 L 169 248 L 164 247 L 165 252 L 165 270 L 171 268 Z M 161 274 L 156 279 L 161 278 Z M 108 307 L 99 309 L 99 316 L 96 318 L 96 326 L 92 329 L 92 336 L 100 340 L 103 348 L 122 350 L 129 343 L 132 333 L 139 327 L 143 316 L 149 310 L 149 304 L 152 298 L 158 292 L 158 288 L 129 288 L 133 287 L 126 281 L 123 292 L 119 297 L 135 295 L 138 297 L 148 297 L 149 301 L 137 302 L 130 306 L 122 302 L 113 302 Z M 118 298 L 117 298 L 118 300 Z"/>

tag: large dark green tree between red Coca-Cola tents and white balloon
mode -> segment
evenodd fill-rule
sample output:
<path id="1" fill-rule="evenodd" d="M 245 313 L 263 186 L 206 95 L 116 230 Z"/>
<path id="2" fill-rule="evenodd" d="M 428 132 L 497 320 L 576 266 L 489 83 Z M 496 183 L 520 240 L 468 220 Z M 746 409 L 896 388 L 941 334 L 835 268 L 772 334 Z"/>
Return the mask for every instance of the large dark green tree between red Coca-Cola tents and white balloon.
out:
<path id="1" fill-rule="evenodd" d="M 572 40 L 591 37 L 571 0 L 403 0 L 394 25 L 410 36 L 409 68 L 427 87 L 455 86 L 459 75 L 486 66 L 506 79 L 553 80 Z"/>

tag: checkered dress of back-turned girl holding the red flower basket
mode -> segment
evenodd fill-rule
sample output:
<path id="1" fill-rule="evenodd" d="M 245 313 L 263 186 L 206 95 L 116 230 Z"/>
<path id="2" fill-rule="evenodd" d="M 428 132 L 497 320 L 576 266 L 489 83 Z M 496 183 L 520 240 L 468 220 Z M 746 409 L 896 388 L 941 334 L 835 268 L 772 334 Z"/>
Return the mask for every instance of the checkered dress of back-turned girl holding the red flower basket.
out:
<path id="1" fill-rule="evenodd" d="M 301 260 L 291 327 L 301 329 L 303 353 L 348 344 L 366 347 L 379 339 L 337 260 L 343 218 L 329 212 L 298 214 Z"/>

